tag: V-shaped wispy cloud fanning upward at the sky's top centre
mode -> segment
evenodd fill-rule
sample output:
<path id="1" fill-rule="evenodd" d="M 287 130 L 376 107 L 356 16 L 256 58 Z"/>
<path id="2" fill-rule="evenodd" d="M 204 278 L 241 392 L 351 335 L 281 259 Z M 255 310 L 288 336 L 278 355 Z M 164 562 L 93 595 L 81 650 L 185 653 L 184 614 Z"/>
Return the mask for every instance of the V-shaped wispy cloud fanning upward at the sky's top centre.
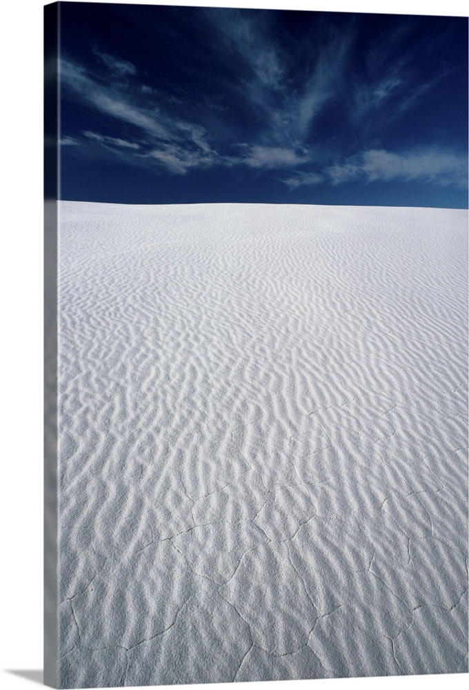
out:
<path id="1" fill-rule="evenodd" d="M 352 27 L 340 34 L 318 32 L 299 45 L 279 41 L 268 12 L 210 10 L 207 16 L 219 45 L 239 64 L 239 96 L 263 119 L 259 143 L 301 146 L 324 106 L 337 97 L 355 38 Z"/>

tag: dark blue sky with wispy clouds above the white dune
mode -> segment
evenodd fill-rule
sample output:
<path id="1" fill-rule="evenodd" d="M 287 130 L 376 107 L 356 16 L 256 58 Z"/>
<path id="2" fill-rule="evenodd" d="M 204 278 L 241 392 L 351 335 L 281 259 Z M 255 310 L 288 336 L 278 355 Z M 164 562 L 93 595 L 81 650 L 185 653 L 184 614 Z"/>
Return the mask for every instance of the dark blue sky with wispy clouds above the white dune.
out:
<path id="1" fill-rule="evenodd" d="M 61 198 L 466 207 L 468 19 L 61 3 Z"/>

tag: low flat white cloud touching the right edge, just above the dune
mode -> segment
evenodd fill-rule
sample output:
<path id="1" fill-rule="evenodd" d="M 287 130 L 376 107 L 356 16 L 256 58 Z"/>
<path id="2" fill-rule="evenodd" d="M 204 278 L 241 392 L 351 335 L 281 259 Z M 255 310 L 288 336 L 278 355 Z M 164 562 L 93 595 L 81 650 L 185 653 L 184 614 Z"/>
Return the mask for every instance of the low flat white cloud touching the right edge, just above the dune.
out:
<path id="1" fill-rule="evenodd" d="M 372 149 L 344 164 L 331 166 L 328 175 L 333 184 L 355 179 L 368 182 L 401 180 L 464 188 L 468 185 L 468 159 L 438 148 L 398 153 Z"/>

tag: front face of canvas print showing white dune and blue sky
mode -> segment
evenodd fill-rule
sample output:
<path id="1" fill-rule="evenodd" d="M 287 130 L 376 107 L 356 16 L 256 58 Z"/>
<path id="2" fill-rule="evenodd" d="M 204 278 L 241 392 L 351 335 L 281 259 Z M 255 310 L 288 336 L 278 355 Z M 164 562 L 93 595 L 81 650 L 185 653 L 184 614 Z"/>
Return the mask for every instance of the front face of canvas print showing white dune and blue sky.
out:
<path id="1" fill-rule="evenodd" d="M 466 673 L 468 19 L 51 7 L 48 682 Z"/>

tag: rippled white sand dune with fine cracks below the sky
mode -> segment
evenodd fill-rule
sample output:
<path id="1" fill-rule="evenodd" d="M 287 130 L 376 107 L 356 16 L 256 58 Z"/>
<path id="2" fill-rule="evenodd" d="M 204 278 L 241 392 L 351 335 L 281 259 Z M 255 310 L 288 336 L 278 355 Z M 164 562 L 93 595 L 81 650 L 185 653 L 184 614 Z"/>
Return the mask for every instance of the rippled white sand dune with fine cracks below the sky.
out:
<path id="1" fill-rule="evenodd" d="M 467 671 L 468 213 L 59 215 L 61 686 Z"/>

